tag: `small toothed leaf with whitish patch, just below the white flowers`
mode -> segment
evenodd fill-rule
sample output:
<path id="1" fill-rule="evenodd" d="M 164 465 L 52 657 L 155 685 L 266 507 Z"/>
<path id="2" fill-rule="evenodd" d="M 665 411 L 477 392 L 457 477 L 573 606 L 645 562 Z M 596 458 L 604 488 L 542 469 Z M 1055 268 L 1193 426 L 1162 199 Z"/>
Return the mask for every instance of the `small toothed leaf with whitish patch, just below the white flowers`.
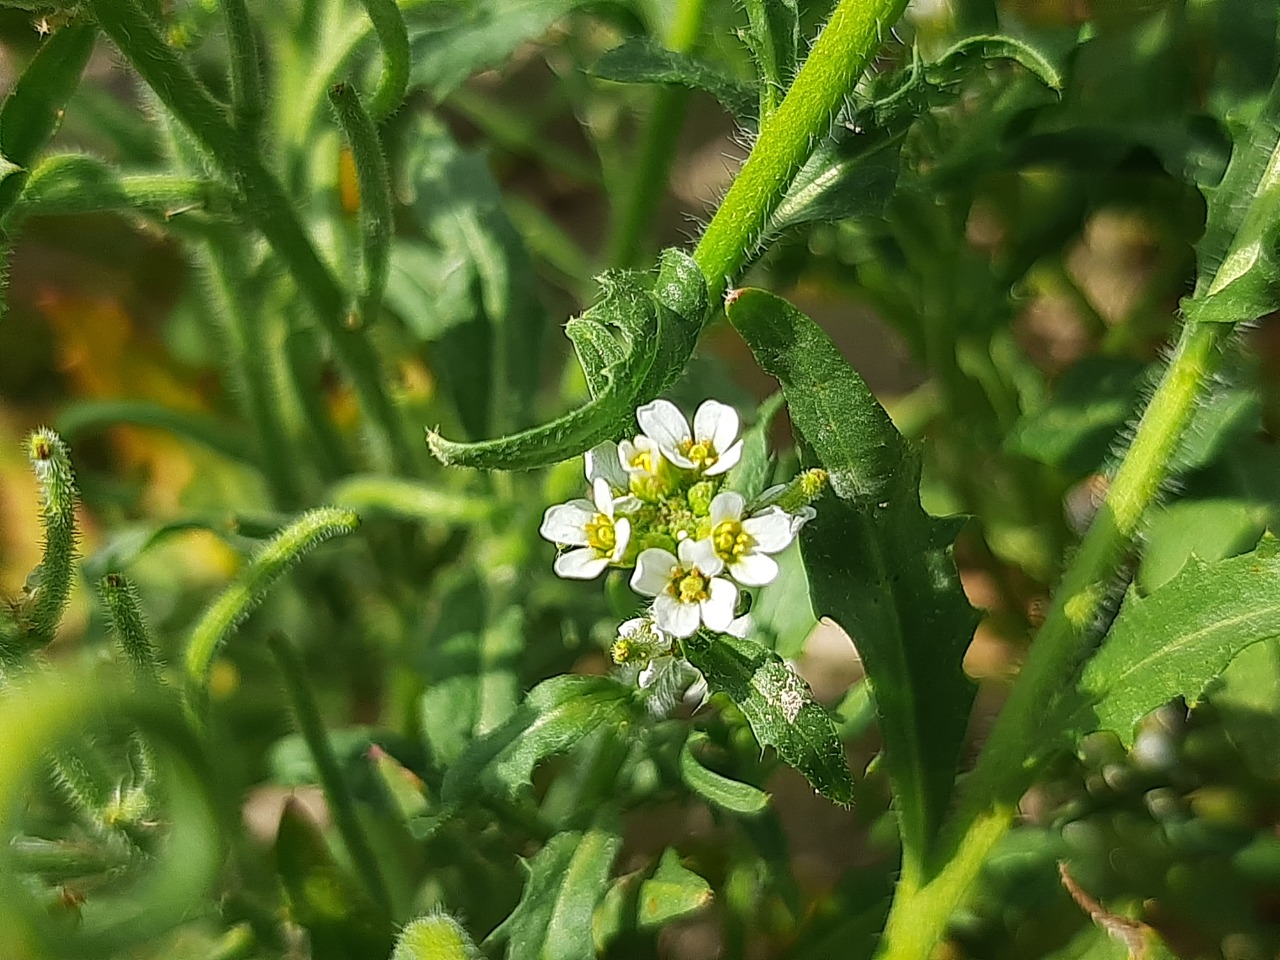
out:
<path id="1" fill-rule="evenodd" d="M 781 657 L 728 635 L 686 640 L 685 653 L 713 692 L 737 704 L 756 740 L 777 750 L 828 800 L 852 801 L 854 778 L 836 724 Z"/>

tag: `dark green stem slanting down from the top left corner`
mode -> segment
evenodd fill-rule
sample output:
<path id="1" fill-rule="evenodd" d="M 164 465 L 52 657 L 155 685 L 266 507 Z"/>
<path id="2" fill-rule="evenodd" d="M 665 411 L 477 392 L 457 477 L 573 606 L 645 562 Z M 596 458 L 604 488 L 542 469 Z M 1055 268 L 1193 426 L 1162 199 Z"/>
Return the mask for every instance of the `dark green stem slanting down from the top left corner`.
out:
<path id="1" fill-rule="evenodd" d="M 293 202 L 262 163 L 256 142 L 246 142 L 237 134 L 221 106 L 132 0 L 90 0 L 90 6 L 102 32 L 237 184 L 252 223 L 293 274 L 298 292 L 310 301 L 351 376 L 361 406 L 390 445 L 397 468 L 416 472 L 417 457 L 399 413 L 383 389 L 372 346 L 360 330 L 347 328 L 347 296 L 316 253 Z"/>

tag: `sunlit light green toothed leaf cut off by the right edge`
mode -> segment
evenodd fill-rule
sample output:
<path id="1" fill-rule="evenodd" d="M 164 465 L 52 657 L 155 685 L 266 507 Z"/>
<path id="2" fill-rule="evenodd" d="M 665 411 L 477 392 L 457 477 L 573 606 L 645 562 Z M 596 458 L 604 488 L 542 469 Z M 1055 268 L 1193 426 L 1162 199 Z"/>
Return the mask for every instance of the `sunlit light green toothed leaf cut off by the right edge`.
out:
<path id="1" fill-rule="evenodd" d="M 1199 699 L 1245 646 L 1280 636 L 1280 541 L 1206 563 L 1192 561 L 1149 596 L 1134 590 L 1080 678 L 1097 730 L 1133 742 L 1157 707 Z"/>

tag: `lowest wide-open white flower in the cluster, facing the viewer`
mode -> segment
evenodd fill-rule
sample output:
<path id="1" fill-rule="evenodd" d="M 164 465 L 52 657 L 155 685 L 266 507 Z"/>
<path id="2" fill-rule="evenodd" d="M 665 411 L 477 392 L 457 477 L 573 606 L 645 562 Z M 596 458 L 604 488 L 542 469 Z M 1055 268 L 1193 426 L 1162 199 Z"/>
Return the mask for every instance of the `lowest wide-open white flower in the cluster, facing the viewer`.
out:
<path id="1" fill-rule="evenodd" d="M 678 550 L 678 559 L 657 547 L 641 550 L 631 588 L 654 598 L 653 618 L 672 636 L 690 636 L 701 625 L 722 632 L 737 604 L 737 588 L 717 576 L 723 561 L 709 540 L 681 540 Z"/>

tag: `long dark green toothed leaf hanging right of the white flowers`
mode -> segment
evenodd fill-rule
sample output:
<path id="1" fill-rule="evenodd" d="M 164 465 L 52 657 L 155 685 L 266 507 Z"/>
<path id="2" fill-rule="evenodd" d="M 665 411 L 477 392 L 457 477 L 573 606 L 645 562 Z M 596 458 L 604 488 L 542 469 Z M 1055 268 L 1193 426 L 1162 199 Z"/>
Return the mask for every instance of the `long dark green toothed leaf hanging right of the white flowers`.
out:
<path id="1" fill-rule="evenodd" d="M 754 289 L 731 293 L 726 314 L 782 383 L 797 439 L 828 471 L 831 493 L 800 534 L 810 595 L 863 659 L 904 849 L 923 856 L 974 696 L 960 663 L 978 616 L 951 557 L 960 522 L 920 508 L 918 452 L 813 320 Z"/>

